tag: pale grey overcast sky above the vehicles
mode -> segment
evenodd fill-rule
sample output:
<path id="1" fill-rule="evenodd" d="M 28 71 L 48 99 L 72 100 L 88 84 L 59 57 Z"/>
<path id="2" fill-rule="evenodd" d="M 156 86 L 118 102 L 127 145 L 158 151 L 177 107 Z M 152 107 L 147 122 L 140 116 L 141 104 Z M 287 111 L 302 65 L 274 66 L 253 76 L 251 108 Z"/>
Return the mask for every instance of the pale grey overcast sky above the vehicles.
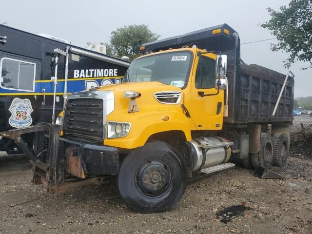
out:
<path id="1" fill-rule="evenodd" d="M 241 43 L 273 36 L 258 24 L 270 19 L 267 7 L 278 10 L 290 0 L 3 0 L 0 24 L 31 33 L 45 33 L 85 47 L 87 41 L 108 42 L 118 27 L 148 24 L 160 39 L 227 23 Z M 241 46 L 241 58 L 286 74 L 287 54 L 271 52 L 271 41 Z M 309 63 L 292 65 L 295 97 L 312 96 L 312 69 Z"/>

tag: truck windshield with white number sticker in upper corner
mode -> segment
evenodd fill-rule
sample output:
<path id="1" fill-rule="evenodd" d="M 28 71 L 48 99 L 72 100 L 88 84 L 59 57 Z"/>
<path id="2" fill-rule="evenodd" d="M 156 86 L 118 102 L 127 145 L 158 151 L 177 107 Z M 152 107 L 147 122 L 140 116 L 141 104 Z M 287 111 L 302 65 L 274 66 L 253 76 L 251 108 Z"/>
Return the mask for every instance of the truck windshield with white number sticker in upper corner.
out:
<path id="1" fill-rule="evenodd" d="M 124 82 L 158 81 L 184 87 L 190 69 L 189 51 L 159 54 L 131 62 Z"/>

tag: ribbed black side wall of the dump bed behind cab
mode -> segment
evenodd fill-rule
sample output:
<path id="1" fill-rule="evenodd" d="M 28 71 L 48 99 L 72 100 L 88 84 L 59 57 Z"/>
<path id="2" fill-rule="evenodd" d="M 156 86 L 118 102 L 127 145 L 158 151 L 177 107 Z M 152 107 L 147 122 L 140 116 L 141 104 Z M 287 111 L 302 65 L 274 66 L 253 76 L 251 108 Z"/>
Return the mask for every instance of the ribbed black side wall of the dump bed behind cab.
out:
<path id="1" fill-rule="evenodd" d="M 272 117 L 285 78 L 285 75 L 259 65 L 240 64 L 240 72 L 234 79 L 229 79 L 229 117 L 225 120 L 241 123 L 291 121 L 294 84 L 291 76 Z"/>

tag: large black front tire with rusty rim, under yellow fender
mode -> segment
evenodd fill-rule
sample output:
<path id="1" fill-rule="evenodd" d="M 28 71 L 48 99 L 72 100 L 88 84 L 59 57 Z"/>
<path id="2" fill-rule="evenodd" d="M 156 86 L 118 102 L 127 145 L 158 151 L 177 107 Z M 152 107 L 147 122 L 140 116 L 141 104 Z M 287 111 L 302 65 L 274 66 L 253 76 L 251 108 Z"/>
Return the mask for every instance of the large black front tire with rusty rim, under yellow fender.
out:
<path id="1" fill-rule="evenodd" d="M 148 142 L 123 160 L 118 189 L 127 206 L 139 213 L 172 209 L 186 188 L 187 173 L 176 149 Z"/>

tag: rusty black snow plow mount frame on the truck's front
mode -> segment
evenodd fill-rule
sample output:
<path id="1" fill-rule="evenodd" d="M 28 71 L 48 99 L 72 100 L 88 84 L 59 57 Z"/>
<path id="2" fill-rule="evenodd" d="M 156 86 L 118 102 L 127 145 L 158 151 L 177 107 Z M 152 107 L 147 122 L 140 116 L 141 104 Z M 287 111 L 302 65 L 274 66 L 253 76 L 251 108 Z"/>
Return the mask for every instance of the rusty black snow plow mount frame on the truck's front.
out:
<path id="1" fill-rule="evenodd" d="M 30 159 L 34 184 L 46 185 L 47 192 L 54 193 L 89 185 L 107 182 L 106 176 L 79 179 L 67 174 L 67 160 L 59 141 L 60 125 L 39 123 L 21 129 L 13 129 L 0 133 L 1 137 L 13 139 L 25 155 Z M 34 148 L 23 140 L 23 134 L 35 133 Z"/>

